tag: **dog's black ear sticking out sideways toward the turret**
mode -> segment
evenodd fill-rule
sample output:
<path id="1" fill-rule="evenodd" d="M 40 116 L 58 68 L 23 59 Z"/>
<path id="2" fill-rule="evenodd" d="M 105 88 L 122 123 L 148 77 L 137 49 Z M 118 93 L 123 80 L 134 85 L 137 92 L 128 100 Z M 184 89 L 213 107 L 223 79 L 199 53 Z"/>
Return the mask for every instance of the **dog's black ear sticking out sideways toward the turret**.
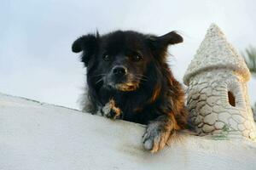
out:
<path id="1" fill-rule="evenodd" d="M 183 42 L 183 37 L 177 34 L 176 31 L 171 31 L 163 36 L 149 36 L 149 46 L 157 55 L 164 55 L 169 45 Z"/>

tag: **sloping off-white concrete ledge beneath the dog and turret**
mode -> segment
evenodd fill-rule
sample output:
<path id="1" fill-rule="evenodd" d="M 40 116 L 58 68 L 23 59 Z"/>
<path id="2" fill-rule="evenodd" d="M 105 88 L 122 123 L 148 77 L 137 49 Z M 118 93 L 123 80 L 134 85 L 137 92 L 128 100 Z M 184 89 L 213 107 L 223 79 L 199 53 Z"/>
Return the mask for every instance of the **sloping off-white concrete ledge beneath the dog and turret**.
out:
<path id="1" fill-rule="evenodd" d="M 143 150 L 144 127 L 0 94 L 1 170 L 255 169 L 247 139 L 178 134 L 165 150 Z"/>

